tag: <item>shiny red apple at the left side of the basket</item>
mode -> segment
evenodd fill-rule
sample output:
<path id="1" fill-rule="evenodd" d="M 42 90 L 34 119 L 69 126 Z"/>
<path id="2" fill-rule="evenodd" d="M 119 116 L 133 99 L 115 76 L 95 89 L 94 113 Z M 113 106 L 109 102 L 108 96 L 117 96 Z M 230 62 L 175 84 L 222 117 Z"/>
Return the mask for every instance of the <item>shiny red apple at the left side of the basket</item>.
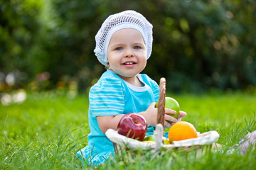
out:
<path id="1" fill-rule="evenodd" d="M 147 124 L 142 115 L 128 113 L 124 115 L 117 125 L 117 133 L 135 140 L 144 140 Z"/>

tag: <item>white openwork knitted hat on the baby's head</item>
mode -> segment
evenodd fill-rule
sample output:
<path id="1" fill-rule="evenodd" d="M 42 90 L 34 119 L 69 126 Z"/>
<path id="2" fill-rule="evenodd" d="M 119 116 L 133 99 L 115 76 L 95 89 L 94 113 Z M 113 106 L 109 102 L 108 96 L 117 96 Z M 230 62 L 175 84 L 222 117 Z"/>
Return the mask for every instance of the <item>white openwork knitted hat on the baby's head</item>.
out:
<path id="1" fill-rule="evenodd" d="M 121 30 L 124 28 L 134 28 L 142 33 L 144 42 L 146 44 L 147 59 L 150 57 L 153 41 L 153 26 L 151 25 L 151 23 L 149 23 L 149 21 L 146 20 L 144 16 L 142 16 L 142 14 L 131 10 L 123 11 L 109 16 L 104 21 L 104 23 L 102 23 L 100 30 L 95 36 L 96 47 L 94 52 L 97 56 L 97 59 L 103 65 L 107 64 L 107 47 L 110 43 L 112 35 L 117 30 Z"/>

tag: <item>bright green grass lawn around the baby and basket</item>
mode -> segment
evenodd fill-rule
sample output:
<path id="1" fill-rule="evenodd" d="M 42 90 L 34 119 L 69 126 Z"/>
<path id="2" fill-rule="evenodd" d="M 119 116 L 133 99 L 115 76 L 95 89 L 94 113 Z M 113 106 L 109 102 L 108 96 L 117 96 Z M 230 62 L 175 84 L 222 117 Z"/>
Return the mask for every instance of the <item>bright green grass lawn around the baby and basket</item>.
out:
<path id="1" fill-rule="evenodd" d="M 183 118 L 199 132 L 216 130 L 217 152 L 123 152 L 98 169 L 255 169 L 256 152 L 227 154 L 240 137 L 256 130 L 255 94 L 173 96 Z M 54 92 L 31 93 L 25 102 L 0 104 L 0 169 L 82 169 L 76 152 L 87 145 L 87 95 L 73 99 Z M 85 166 L 85 169 L 92 167 Z"/>

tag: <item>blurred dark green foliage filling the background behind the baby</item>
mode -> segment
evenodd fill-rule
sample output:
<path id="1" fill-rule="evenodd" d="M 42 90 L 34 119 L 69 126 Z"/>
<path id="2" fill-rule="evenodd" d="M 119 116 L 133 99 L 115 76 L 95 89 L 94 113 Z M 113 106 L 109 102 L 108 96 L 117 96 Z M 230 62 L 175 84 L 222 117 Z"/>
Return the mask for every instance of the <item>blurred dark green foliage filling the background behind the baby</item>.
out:
<path id="1" fill-rule="evenodd" d="M 0 1 L 0 91 L 87 90 L 105 71 L 93 53 L 97 30 L 127 9 L 153 24 L 144 73 L 166 77 L 169 91 L 255 89 L 256 1 Z"/>

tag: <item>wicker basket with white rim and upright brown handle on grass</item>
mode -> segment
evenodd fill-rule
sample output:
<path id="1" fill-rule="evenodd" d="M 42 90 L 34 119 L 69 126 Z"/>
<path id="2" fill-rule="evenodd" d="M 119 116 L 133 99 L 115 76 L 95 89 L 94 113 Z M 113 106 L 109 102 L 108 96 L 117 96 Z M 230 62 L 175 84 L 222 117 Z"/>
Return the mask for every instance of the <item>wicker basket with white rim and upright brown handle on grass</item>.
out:
<path id="1" fill-rule="evenodd" d="M 165 94 L 166 94 L 166 80 L 164 78 L 160 79 L 159 83 L 159 106 L 157 113 L 157 125 L 156 130 L 154 130 L 154 136 L 156 143 L 145 143 L 139 140 L 134 140 L 123 135 L 119 135 L 116 130 L 109 129 L 106 132 L 107 137 L 113 142 L 114 152 L 121 148 L 126 149 L 150 149 L 155 152 L 165 149 L 178 149 L 182 148 L 185 151 L 191 149 L 201 149 L 203 146 L 210 147 L 214 142 L 218 141 L 220 135 L 216 131 L 209 131 L 200 134 L 198 132 L 198 137 L 188 140 L 174 141 L 171 145 L 162 144 L 162 136 L 164 134 L 164 106 L 165 106 Z"/>

